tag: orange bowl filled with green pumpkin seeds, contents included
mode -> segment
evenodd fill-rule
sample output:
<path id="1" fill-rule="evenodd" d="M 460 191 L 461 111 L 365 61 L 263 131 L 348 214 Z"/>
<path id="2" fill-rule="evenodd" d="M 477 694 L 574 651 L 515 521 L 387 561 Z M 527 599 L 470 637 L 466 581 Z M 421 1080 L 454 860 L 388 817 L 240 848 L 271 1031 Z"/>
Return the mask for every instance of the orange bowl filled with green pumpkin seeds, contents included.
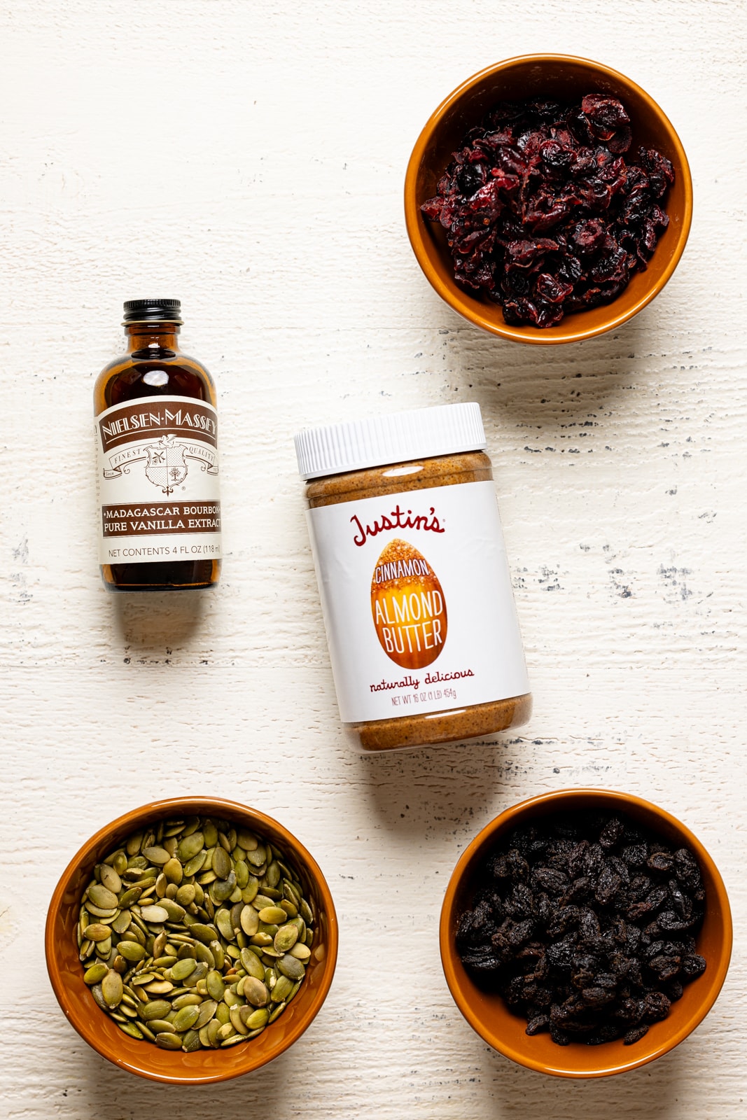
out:
<path id="1" fill-rule="evenodd" d="M 57 1001 L 115 1065 L 204 1084 L 271 1062 L 332 984 L 325 878 L 282 824 L 231 801 L 176 797 L 120 816 L 63 874 L 45 949 Z"/>

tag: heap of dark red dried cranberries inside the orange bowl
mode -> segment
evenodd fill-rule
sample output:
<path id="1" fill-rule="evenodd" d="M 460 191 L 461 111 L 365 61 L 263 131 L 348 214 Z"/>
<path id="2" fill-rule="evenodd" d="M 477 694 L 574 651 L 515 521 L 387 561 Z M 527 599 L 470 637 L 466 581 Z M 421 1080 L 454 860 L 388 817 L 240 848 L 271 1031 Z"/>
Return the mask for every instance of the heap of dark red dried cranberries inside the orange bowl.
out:
<path id="1" fill-rule="evenodd" d="M 457 282 L 541 328 L 616 299 L 669 224 L 660 200 L 674 180 L 654 149 L 626 162 L 631 143 L 608 94 L 494 106 L 421 206 L 447 232 Z"/>

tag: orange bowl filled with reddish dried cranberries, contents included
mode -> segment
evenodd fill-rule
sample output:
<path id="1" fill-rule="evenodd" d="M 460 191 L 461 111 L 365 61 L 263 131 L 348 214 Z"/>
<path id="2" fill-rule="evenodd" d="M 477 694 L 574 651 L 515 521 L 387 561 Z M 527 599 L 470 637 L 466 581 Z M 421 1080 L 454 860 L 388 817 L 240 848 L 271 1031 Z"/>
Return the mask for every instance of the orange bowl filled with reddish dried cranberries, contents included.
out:
<path id="1" fill-rule="evenodd" d="M 480 71 L 414 146 L 404 211 L 418 263 L 470 323 L 522 343 L 619 327 L 684 250 L 692 180 L 656 102 L 567 55 Z"/>

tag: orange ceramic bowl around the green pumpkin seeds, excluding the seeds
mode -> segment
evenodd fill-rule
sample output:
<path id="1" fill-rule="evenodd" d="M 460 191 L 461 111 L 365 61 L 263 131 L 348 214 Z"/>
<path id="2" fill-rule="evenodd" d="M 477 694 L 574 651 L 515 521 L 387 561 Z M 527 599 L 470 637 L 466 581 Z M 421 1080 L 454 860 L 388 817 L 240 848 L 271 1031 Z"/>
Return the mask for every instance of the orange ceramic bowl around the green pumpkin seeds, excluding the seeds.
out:
<path id="1" fill-rule="evenodd" d="M 287 855 L 309 890 L 319 915 L 317 937 L 306 979 L 296 999 L 282 1015 L 256 1038 L 241 1046 L 217 1051 L 160 1049 L 149 1042 L 139 1042 L 123 1034 L 93 1000 L 83 982 L 83 968 L 78 961 L 75 926 L 81 895 L 88 883 L 94 866 L 116 848 L 131 832 L 166 818 L 202 813 L 217 816 L 252 829 L 265 837 Z M 106 824 L 87 840 L 73 858 L 60 878 L 49 904 L 45 933 L 47 969 L 52 987 L 63 1011 L 77 1033 L 102 1057 L 122 1070 L 141 1077 L 170 1084 L 200 1085 L 213 1081 L 228 1081 L 242 1073 L 251 1073 L 288 1049 L 310 1025 L 325 1001 L 337 960 L 337 918 L 329 888 L 319 867 L 288 829 L 271 816 L 248 809 L 233 801 L 215 797 L 174 797 L 155 801 L 149 805 L 125 813 Z"/>

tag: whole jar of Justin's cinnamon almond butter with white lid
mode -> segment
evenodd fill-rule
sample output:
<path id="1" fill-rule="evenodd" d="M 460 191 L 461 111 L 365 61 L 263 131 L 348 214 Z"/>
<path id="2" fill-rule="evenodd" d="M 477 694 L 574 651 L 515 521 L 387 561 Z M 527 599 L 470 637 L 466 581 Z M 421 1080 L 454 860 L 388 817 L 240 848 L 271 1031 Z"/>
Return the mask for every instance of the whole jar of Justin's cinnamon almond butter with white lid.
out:
<path id="1" fill-rule="evenodd" d="M 340 717 L 364 750 L 531 715 L 485 446 L 475 403 L 296 437 Z"/>

